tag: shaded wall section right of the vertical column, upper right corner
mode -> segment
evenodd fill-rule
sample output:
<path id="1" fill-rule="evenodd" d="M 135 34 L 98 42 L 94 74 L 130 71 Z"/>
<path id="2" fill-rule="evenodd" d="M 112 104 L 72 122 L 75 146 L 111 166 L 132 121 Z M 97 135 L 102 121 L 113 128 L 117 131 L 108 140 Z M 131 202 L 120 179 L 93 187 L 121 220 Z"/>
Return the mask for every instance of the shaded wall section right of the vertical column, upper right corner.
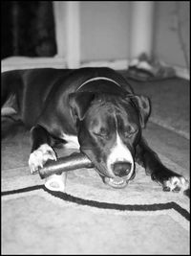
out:
<path id="1" fill-rule="evenodd" d="M 182 22 L 182 39 L 190 56 L 190 3 L 180 1 L 180 21 Z M 155 15 L 154 54 L 156 57 L 173 65 L 185 67 L 185 59 L 180 49 L 177 32 L 170 28 L 176 26 L 175 1 L 157 1 Z"/>

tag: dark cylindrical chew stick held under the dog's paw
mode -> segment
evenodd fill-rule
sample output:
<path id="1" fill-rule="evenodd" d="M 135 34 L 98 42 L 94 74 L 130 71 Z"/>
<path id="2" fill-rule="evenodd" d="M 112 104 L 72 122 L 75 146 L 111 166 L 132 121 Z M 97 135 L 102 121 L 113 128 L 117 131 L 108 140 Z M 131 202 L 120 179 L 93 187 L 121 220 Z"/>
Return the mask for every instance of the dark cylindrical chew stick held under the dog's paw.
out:
<path id="1" fill-rule="evenodd" d="M 93 163 L 85 154 L 74 152 L 71 155 L 58 158 L 57 161 L 49 160 L 38 173 L 41 178 L 45 178 L 50 175 L 61 175 L 63 172 L 79 168 L 93 167 Z"/>

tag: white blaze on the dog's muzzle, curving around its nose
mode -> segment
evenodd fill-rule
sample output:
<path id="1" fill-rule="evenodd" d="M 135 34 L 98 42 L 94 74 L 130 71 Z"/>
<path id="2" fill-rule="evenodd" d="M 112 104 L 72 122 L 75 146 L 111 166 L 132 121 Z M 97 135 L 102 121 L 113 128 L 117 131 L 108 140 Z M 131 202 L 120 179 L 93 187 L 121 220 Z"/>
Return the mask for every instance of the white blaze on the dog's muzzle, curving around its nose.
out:
<path id="1" fill-rule="evenodd" d="M 130 178 L 132 173 L 134 172 L 134 158 L 132 156 L 131 151 L 127 148 L 127 146 L 122 142 L 120 139 L 118 133 L 117 133 L 117 141 L 112 148 L 108 159 L 107 159 L 107 168 L 109 171 L 109 174 L 112 176 L 115 176 L 113 170 L 112 170 L 112 165 L 116 162 L 129 162 L 131 164 L 131 170 L 129 174 L 127 175 L 127 178 Z"/>

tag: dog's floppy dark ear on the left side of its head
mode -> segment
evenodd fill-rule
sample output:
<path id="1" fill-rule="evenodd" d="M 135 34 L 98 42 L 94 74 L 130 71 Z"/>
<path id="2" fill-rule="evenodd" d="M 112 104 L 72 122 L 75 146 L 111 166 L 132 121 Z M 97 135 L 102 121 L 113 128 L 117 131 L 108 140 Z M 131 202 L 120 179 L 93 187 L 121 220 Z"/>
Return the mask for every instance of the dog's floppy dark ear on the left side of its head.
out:
<path id="1" fill-rule="evenodd" d="M 84 118 L 85 113 L 95 99 L 93 92 L 74 92 L 69 95 L 69 105 L 71 106 L 74 122 L 77 119 L 80 121 Z"/>

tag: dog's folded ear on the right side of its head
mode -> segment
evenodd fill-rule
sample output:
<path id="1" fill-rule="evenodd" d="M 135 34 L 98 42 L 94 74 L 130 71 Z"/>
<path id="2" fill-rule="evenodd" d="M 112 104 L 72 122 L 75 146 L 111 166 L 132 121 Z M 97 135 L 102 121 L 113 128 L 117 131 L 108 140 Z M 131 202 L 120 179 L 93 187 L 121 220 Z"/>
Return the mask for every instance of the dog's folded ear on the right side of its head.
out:
<path id="1" fill-rule="evenodd" d="M 150 100 L 148 97 L 142 95 L 134 95 L 134 97 L 132 97 L 132 100 L 134 104 L 137 105 L 139 110 L 140 125 L 142 128 L 145 128 L 145 125 L 151 113 Z"/>

